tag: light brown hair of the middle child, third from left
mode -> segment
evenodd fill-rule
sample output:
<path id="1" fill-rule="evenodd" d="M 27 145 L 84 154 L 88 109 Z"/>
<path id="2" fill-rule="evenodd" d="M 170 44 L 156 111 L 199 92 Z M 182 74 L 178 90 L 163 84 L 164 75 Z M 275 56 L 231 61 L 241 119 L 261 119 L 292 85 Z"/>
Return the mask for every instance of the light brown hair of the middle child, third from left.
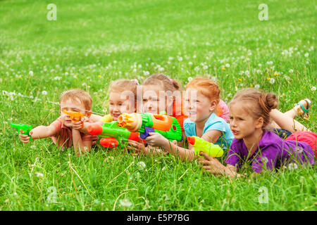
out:
<path id="1" fill-rule="evenodd" d="M 166 77 L 166 75 L 163 74 L 155 74 L 151 75 L 150 77 L 147 77 L 147 79 L 144 79 L 143 86 L 144 85 L 161 85 L 162 91 L 178 91 L 180 90 L 180 84 L 175 79 L 169 79 Z"/>

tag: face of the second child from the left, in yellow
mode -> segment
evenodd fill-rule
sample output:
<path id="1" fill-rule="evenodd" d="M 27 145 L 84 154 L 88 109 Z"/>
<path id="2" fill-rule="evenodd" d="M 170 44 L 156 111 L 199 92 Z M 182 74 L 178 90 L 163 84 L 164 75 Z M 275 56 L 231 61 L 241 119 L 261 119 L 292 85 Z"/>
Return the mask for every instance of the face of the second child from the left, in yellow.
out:
<path id="1" fill-rule="evenodd" d="M 115 91 L 109 95 L 109 111 L 113 120 L 118 120 L 123 113 L 135 113 L 135 105 L 129 96 Z"/>

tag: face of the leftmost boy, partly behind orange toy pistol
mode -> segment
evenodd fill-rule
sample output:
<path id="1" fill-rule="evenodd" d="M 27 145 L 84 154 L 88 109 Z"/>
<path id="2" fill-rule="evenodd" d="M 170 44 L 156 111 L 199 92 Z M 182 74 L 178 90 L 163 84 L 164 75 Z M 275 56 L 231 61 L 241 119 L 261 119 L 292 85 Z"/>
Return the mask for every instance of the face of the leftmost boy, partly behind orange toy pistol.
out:
<path id="1" fill-rule="evenodd" d="M 66 127 L 72 127 L 73 122 L 72 122 L 72 120 L 70 120 L 70 115 L 63 113 L 63 110 L 79 112 L 79 113 L 82 113 L 84 116 L 90 117 L 90 113 L 88 113 L 86 111 L 85 105 L 80 103 L 80 101 L 73 101 L 73 100 L 69 99 L 69 100 L 61 102 L 60 105 L 61 105 L 60 106 L 61 119 L 62 119 L 63 124 Z"/>

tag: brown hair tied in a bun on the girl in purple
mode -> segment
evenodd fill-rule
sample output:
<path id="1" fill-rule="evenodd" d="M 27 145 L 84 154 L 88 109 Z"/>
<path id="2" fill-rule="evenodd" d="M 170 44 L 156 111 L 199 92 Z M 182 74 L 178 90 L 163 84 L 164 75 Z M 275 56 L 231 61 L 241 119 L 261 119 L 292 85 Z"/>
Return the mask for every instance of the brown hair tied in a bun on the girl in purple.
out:
<path id="1" fill-rule="evenodd" d="M 271 110 L 278 108 L 278 98 L 274 93 L 264 93 L 256 89 L 242 89 L 232 98 L 232 103 L 243 101 L 240 106 L 249 113 L 254 119 L 263 117 L 263 127 L 270 123 Z"/>

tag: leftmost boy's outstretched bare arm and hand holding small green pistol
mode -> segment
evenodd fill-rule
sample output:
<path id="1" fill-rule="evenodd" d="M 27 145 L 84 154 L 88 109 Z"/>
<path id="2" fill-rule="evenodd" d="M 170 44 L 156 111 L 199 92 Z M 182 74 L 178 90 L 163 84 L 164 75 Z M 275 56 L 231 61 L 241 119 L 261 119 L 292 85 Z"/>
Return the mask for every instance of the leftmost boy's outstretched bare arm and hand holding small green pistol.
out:
<path id="1" fill-rule="evenodd" d="M 20 133 L 23 133 L 23 130 L 20 130 Z M 51 125 L 35 127 L 30 131 L 32 139 L 45 139 L 49 136 L 54 136 L 54 134 L 56 134 L 56 128 Z M 23 143 L 27 143 L 30 140 L 30 136 L 27 136 L 26 134 L 19 134 L 19 139 Z"/>

